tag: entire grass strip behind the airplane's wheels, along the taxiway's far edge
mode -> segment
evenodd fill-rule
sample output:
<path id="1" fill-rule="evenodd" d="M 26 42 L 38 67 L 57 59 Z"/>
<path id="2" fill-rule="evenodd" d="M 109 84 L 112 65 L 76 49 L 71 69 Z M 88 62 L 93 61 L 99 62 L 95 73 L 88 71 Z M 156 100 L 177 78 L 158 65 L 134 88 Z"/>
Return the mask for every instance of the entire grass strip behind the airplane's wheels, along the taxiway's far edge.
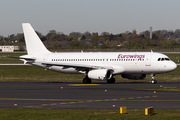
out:
<path id="1" fill-rule="evenodd" d="M 157 74 L 158 82 L 180 82 L 180 66 L 173 72 Z M 0 81 L 24 81 L 24 82 L 82 82 L 83 74 L 65 74 L 44 70 L 36 66 L 0 66 Z M 151 76 L 144 80 L 129 80 L 121 75 L 115 76 L 116 82 L 149 82 Z M 94 82 L 94 81 L 92 81 Z M 98 81 L 95 81 L 98 82 Z M 106 81 L 103 81 L 106 82 Z"/>

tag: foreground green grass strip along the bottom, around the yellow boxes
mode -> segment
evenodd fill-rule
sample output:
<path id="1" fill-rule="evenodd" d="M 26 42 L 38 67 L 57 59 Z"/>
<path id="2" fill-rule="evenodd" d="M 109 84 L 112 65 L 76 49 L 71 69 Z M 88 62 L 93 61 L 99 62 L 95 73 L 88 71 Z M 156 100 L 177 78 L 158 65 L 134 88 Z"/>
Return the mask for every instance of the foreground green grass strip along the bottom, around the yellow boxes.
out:
<path id="1" fill-rule="evenodd" d="M 92 109 L 0 109 L 1 120 L 179 120 L 180 110 L 155 110 L 155 115 L 144 115 L 144 110 Z"/>

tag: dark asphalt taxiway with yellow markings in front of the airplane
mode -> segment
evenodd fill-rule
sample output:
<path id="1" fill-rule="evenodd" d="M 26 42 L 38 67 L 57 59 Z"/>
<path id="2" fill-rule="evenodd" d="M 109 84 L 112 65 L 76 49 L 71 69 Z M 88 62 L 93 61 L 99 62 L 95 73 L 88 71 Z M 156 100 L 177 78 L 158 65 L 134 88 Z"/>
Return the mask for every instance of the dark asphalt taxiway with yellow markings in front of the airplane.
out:
<path id="1" fill-rule="evenodd" d="M 180 92 L 134 88 L 180 88 L 180 83 L 0 82 L 0 108 L 41 109 L 180 109 Z"/>

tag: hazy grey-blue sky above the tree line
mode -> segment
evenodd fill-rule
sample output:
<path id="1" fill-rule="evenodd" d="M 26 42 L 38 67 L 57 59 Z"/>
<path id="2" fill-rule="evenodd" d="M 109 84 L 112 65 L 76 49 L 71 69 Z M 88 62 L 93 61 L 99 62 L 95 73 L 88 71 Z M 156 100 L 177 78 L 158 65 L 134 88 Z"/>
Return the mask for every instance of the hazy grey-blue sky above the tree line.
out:
<path id="1" fill-rule="evenodd" d="M 0 35 L 22 33 L 30 23 L 46 35 L 49 30 L 123 33 L 136 29 L 180 29 L 180 0 L 1 0 Z"/>

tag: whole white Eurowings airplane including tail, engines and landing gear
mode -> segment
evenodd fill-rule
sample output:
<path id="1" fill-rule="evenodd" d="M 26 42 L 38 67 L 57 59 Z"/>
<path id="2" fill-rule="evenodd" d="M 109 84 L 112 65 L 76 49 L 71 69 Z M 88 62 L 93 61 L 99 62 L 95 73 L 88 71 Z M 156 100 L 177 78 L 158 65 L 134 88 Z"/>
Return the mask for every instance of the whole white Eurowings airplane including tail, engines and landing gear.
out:
<path id="1" fill-rule="evenodd" d="M 83 83 L 91 83 L 91 79 L 115 83 L 115 75 L 142 80 L 147 74 L 151 74 L 151 83 L 156 83 L 156 74 L 177 68 L 168 56 L 153 51 L 53 53 L 44 46 L 29 23 L 22 23 L 22 27 L 27 55 L 20 56 L 19 60 L 45 70 L 84 74 Z"/>

